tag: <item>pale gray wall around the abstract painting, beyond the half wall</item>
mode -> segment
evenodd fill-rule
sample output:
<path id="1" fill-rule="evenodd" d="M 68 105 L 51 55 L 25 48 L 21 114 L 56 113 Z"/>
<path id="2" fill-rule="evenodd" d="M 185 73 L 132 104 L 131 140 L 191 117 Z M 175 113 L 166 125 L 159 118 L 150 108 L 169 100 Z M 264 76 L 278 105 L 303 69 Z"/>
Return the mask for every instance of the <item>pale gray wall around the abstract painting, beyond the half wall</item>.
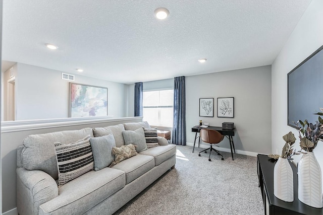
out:
<path id="1" fill-rule="evenodd" d="M 69 114 L 69 81 L 61 71 L 17 63 L 16 119 L 66 118 Z M 109 116 L 125 117 L 127 85 L 75 75 L 74 83 L 108 88 Z"/>

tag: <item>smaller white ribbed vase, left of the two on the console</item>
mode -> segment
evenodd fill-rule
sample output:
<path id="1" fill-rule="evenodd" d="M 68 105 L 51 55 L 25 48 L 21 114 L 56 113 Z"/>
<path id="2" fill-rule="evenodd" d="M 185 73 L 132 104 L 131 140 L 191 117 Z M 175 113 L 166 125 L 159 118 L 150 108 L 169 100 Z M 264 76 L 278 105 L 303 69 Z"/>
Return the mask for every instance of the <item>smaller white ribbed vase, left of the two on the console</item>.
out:
<path id="1" fill-rule="evenodd" d="M 275 164 L 274 195 L 283 201 L 294 201 L 293 170 L 286 158 L 279 158 Z"/>

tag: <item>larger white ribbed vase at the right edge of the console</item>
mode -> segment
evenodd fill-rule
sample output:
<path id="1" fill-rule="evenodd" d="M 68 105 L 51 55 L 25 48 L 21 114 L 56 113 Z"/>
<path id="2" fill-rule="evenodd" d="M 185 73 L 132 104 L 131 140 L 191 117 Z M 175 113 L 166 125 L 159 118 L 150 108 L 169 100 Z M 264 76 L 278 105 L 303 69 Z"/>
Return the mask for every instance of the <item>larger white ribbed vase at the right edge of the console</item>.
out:
<path id="1" fill-rule="evenodd" d="M 303 154 L 298 163 L 298 199 L 311 207 L 323 207 L 322 173 L 312 152 Z"/>

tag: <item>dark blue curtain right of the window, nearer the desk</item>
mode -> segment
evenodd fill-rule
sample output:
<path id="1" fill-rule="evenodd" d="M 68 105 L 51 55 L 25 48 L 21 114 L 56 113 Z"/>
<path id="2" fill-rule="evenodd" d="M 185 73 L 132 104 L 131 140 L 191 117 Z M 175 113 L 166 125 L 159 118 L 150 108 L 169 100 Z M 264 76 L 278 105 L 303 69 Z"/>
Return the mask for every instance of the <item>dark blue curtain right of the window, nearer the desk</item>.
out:
<path id="1" fill-rule="evenodd" d="M 172 142 L 176 145 L 186 145 L 185 120 L 185 77 L 174 80 L 174 120 Z"/>

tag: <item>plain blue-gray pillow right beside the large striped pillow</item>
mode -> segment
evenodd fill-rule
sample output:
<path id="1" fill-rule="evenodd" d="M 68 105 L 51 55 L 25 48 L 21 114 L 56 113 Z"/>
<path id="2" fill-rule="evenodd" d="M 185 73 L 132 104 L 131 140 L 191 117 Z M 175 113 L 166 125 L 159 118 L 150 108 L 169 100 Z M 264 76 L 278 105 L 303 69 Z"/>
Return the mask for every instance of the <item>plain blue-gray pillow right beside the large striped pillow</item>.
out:
<path id="1" fill-rule="evenodd" d="M 100 137 L 91 137 L 90 144 L 94 158 L 94 170 L 98 171 L 108 167 L 113 162 L 112 148 L 116 141 L 112 134 Z"/>

